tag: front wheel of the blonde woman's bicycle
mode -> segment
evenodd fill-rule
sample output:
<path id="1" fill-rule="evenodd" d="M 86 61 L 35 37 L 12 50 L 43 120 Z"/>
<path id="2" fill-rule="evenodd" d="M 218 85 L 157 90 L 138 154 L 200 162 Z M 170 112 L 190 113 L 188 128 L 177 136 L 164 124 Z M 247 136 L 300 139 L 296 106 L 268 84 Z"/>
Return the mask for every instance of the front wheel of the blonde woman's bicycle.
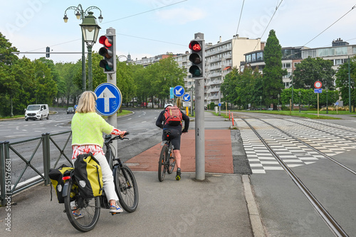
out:
<path id="1" fill-rule="evenodd" d="M 114 172 L 115 189 L 122 208 L 133 212 L 138 205 L 138 187 L 131 169 L 127 166 L 116 166 Z"/>

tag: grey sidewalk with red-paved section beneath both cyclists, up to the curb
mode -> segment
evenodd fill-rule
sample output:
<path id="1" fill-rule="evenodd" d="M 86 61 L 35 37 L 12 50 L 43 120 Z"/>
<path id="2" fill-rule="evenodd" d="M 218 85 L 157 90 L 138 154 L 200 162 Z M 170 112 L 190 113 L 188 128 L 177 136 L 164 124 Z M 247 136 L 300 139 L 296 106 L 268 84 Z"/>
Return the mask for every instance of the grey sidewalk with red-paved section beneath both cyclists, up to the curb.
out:
<path id="1" fill-rule="evenodd" d="M 247 175 L 234 174 L 231 122 L 205 112 L 206 179 L 195 179 L 194 122 L 182 136 L 182 179 L 157 177 L 160 144 L 132 157 L 140 200 L 137 210 L 115 216 L 102 209 L 93 231 L 85 236 L 263 236 Z M 35 186 L 12 198 L 11 211 L 0 208 L 0 236 L 73 236 L 64 205 L 49 186 Z M 11 232 L 6 214 L 11 214 Z"/>

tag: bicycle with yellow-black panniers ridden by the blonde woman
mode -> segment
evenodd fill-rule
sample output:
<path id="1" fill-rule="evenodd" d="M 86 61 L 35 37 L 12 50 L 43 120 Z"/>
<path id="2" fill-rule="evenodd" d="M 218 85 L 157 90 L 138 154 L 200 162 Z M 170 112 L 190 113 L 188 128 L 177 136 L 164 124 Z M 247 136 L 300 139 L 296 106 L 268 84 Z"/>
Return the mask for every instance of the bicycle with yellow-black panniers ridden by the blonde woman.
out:
<path id="1" fill-rule="evenodd" d="M 125 135 L 128 134 L 129 132 L 125 133 Z M 106 135 L 104 142 L 106 147 L 105 157 L 112 168 L 115 190 L 119 197 L 122 209 L 131 213 L 137 209 L 138 205 L 137 183 L 131 169 L 122 164 L 120 158 L 115 158 L 114 152 L 112 152 L 114 147 L 111 145 L 112 141 L 115 139 L 128 138 Z M 66 180 L 63 187 L 64 206 L 70 223 L 78 231 L 91 231 L 96 223 L 98 223 L 100 208 L 110 208 L 105 192 L 103 191 L 101 196 L 95 196 L 94 198 L 89 199 L 84 198 L 83 196 L 80 196 L 78 184 L 76 184 L 73 171 L 65 172 L 63 174 L 63 180 Z M 75 214 L 73 214 L 77 210 L 80 211 L 80 215 L 82 216 L 75 216 Z"/>

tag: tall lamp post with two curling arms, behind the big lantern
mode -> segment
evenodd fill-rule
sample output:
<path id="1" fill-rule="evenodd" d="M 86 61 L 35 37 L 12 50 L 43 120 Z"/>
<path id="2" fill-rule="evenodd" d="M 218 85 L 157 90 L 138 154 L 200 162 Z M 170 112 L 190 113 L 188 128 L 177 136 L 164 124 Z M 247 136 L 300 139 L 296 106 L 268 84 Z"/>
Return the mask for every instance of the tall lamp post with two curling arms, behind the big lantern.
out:
<path id="1" fill-rule="evenodd" d="M 103 16 L 101 15 L 101 10 L 97 6 L 89 6 L 88 9 L 85 9 L 85 11 L 84 11 L 82 5 L 80 5 L 80 4 L 78 6 L 68 7 L 68 9 L 66 9 L 66 11 L 64 11 L 63 20 L 65 23 L 67 23 L 68 22 L 67 11 L 73 10 L 75 12 L 75 16 L 77 17 L 77 19 L 78 20 L 81 19 L 82 23 L 83 23 L 84 17 L 88 16 L 89 11 L 92 9 L 98 9 L 100 11 L 100 16 L 98 17 L 98 19 L 99 19 L 99 22 L 101 23 L 103 21 Z M 82 30 L 83 30 L 83 28 L 82 28 Z M 96 39 L 95 39 L 95 41 L 96 41 Z M 90 50 L 91 50 L 91 48 L 90 48 Z M 82 33 L 82 92 L 84 92 L 85 90 L 86 90 L 86 86 L 85 86 L 85 45 L 84 45 L 84 35 Z"/>

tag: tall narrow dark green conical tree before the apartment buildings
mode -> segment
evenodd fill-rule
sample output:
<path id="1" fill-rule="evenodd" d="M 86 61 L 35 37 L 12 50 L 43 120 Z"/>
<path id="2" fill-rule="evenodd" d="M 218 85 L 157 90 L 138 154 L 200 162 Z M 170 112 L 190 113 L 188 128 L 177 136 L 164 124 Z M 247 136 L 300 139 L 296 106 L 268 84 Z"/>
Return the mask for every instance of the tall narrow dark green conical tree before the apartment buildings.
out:
<path id="1" fill-rule="evenodd" d="M 284 88 L 282 78 L 287 71 L 282 69 L 282 47 L 274 30 L 269 32 L 263 58 L 266 63 L 263 68 L 263 101 L 266 105 L 273 103 L 273 110 L 276 110 L 278 94 Z"/>

